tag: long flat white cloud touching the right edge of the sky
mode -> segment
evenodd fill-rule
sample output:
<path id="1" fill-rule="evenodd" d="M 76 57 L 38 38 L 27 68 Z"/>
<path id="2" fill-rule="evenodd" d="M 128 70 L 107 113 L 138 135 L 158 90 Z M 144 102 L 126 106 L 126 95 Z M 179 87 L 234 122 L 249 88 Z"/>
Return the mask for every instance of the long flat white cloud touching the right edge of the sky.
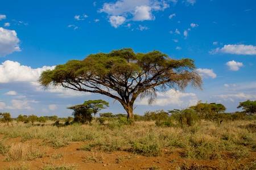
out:
<path id="1" fill-rule="evenodd" d="M 224 45 L 222 48 L 217 48 L 210 51 L 211 54 L 227 53 L 237 55 L 256 55 L 256 46 L 253 45 Z"/>

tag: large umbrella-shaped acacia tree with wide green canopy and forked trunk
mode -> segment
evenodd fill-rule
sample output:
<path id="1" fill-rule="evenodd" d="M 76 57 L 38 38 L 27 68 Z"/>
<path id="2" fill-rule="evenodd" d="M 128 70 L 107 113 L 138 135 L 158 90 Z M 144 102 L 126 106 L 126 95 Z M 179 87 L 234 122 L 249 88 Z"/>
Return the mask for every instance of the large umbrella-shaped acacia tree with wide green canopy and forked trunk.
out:
<path id="1" fill-rule="evenodd" d="M 76 91 L 102 94 L 118 100 L 133 119 L 134 101 L 148 96 L 152 103 L 157 91 L 183 90 L 189 83 L 201 87 L 192 59 L 172 59 L 159 51 L 134 53 L 132 49 L 90 54 L 42 73 L 39 83 Z"/>

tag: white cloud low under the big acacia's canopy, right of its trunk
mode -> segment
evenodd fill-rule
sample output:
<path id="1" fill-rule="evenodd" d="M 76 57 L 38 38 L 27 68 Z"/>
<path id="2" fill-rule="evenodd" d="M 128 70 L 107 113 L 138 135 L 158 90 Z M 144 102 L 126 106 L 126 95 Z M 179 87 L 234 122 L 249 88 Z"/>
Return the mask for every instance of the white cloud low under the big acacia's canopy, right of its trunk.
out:
<path id="1" fill-rule="evenodd" d="M 175 90 L 169 90 L 163 93 L 157 93 L 158 97 L 152 105 L 166 106 L 166 105 L 178 105 L 179 107 L 189 107 L 197 103 L 198 99 L 196 94 L 185 93 Z M 187 105 L 183 105 L 183 104 Z M 145 97 L 137 102 L 138 105 L 148 105 L 148 98 Z"/>

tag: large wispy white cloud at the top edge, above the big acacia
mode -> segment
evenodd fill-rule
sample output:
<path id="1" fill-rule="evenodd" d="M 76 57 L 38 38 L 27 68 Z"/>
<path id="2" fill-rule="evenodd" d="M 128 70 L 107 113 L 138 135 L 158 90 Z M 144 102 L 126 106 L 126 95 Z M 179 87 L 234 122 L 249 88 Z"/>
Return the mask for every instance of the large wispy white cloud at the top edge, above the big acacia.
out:
<path id="1" fill-rule="evenodd" d="M 154 20 L 155 16 L 152 14 L 153 11 L 163 11 L 168 7 L 169 5 L 165 1 L 119 0 L 114 3 L 104 3 L 100 12 L 105 12 L 106 14 L 108 14 L 110 18 L 112 18 L 114 23 L 116 20 L 118 20 L 118 24 L 113 24 L 113 22 L 111 22 L 110 20 L 112 26 L 117 28 L 119 25 L 122 25 L 127 19 L 131 19 L 134 21 Z"/>

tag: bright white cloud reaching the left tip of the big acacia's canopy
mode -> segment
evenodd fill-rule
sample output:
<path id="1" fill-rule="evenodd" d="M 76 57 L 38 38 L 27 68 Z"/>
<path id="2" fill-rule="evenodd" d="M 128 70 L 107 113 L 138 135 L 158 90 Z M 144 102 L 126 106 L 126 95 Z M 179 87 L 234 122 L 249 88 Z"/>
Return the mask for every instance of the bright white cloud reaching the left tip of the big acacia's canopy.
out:
<path id="1" fill-rule="evenodd" d="M 7 60 L 0 65 L 0 83 L 37 82 L 43 71 L 54 69 L 54 67 L 43 66 L 42 68 L 32 69 L 29 66 L 20 65 L 18 62 Z"/>

